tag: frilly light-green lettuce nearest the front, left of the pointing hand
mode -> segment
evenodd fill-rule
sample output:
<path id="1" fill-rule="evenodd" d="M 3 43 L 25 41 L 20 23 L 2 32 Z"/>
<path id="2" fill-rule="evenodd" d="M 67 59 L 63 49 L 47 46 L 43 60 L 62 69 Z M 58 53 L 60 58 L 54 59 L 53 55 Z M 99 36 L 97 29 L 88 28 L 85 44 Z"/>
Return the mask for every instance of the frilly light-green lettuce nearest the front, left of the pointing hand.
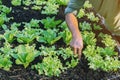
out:
<path id="1" fill-rule="evenodd" d="M 45 74 L 47 76 L 59 76 L 63 71 L 63 66 L 57 56 L 45 57 L 42 63 L 38 63 L 34 66 L 39 74 Z"/>

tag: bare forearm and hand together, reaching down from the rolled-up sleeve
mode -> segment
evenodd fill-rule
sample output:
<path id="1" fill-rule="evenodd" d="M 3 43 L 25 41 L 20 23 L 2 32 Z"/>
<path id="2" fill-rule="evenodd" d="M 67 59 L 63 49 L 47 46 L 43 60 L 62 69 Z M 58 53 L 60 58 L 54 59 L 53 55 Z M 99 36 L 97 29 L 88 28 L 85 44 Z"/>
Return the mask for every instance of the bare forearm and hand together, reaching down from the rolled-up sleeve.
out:
<path id="1" fill-rule="evenodd" d="M 65 19 L 68 24 L 68 28 L 70 29 L 72 33 L 72 40 L 70 42 L 70 46 L 73 48 L 74 54 L 78 54 L 78 57 L 80 59 L 81 51 L 83 48 L 83 41 L 82 41 L 82 36 L 78 28 L 77 18 L 74 16 L 73 13 L 68 13 L 65 16 Z"/>

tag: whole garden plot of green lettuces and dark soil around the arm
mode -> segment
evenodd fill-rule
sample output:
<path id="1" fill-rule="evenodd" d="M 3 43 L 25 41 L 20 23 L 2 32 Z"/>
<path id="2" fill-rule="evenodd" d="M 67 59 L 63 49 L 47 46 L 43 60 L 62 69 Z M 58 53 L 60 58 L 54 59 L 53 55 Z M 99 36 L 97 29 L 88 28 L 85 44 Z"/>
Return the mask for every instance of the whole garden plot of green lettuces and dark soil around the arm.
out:
<path id="1" fill-rule="evenodd" d="M 73 54 L 72 35 L 64 20 L 68 2 L 0 0 L 0 79 L 119 80 L 116 42 L 104 32 L 102 19 L 89 1 L 77 15 L 84 41 L 81 60 Z M 13 77 L 10 73 L 16 67 L 30 73 L 24 73 L 26 78 Z"/>

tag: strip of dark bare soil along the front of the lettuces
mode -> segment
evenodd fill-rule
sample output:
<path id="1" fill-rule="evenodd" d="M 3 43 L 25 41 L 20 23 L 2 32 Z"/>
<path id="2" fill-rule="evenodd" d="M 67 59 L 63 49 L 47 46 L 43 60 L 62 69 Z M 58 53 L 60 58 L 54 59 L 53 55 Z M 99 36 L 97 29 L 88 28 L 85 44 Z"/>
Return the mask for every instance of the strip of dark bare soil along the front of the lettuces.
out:
<path id="1" fill-rule="evenodd" d="M 68 69 L 60 74 L 59 77 L 47 77 L 38 75 L 30 68 L 24 69 L 23 66 L 13 66 L 10 71 L 0 70 L 1 80 L 120 80 L 120 71 L 104 72 L 94 71 L 88 68 L 87 61 L 82 61 L 75 67 Z"/>

